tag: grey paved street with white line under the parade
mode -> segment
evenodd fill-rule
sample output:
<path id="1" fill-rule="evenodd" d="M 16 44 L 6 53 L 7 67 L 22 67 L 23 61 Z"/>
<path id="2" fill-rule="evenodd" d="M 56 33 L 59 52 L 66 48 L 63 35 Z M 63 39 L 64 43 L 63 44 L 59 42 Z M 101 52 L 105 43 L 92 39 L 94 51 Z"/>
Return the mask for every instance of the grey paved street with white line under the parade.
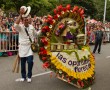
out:
<path id="1" fill-rule="evenodd" d="M 93 46 L 91 46 L 93 50 Z M 108 58 L 107 58 L 108 57 Z M 101 54 L 96 53 L 96 80 L 92 90 L 110 90 L 110 44 L 102 45 Z M 16 82 L 20 73 L 12 73 L 15 56 L 0 57 L 0 90 L 80 90 L 57 78 L 42 68 L 42 62 L 35 54 L 32 83 Z M 88 90 L 88 89 L 85 89 Z"/>

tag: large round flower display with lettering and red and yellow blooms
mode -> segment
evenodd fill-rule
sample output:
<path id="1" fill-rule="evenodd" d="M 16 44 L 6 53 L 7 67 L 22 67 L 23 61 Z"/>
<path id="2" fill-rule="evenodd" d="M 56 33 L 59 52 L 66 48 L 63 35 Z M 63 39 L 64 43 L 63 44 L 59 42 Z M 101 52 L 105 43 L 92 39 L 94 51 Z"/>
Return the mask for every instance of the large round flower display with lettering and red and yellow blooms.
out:
<path id="1" fill-rule="evenodd" d="M 45 69 L 79 88 L 94 82 L 95 61 L 85 40 L 84 9 L 57 6 L 48 15 L 39 38 L 39 57 Z"/>

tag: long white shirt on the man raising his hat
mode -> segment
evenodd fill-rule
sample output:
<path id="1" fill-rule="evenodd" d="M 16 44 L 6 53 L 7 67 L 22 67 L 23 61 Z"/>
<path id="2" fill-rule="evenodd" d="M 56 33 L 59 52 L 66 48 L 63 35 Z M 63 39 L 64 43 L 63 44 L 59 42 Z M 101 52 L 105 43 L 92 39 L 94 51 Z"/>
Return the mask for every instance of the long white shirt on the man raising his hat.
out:
<path id="1" fill-rule="evenodd" d="M 19 32 L 19 56 L 27 57 L 33 55 L 29 36 L 31 40 L 34 41 L 34 37 L 37 35 L 37 32 L 35 31 L 34 27 L 32 25 L 29 25 L 29 27 L 27 27 L 29 36 L 27 36 L 27 33 L 25 31 L 26 27 L 24 26 L 24 24 L 14 24 L 14 27 Z"/>

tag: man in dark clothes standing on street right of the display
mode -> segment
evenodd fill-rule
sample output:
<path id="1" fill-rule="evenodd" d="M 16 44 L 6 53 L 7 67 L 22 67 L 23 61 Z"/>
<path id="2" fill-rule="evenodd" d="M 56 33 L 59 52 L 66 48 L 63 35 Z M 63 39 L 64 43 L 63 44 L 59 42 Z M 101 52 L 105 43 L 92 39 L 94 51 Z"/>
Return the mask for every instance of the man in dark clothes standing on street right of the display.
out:
<path id="1" fill-rule="evenodd" d="M 102 40 L 103 40 L 103 31 L 101 29 L 101 26 L 98 26 L 97 31 L 95 32 L 95 46 L 93 53 L 96 52 L 98 47 L 98 53 L 100 54 Z"/>

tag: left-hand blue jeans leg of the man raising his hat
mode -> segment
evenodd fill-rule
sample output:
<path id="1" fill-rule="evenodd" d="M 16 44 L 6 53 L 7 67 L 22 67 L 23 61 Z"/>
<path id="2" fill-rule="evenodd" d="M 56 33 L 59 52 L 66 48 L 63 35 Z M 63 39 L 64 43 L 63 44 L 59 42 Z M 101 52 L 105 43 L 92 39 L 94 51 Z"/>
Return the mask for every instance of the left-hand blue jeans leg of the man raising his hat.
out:
<path id="1" fill-rule="evenodd" d="M 21 75 L 26 79 L 26 57 L 21 57 Z"/>

